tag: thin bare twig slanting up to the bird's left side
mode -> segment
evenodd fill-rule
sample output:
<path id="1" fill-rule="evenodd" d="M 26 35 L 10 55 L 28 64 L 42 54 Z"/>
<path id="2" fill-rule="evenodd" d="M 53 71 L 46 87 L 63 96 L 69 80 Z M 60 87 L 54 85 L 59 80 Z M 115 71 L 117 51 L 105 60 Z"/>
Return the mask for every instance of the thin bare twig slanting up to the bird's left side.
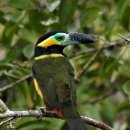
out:
<path id="1" fill-rule="evenodd" d="M 3 86 L 2 88 L 0 88 L 0 92 L 3 92 L 3 91 L 5 91 L 5 90 L 7 90 L 7 89 L 9 89 L 9 88 L 12 88 L 13 86 L 15 86 L 15 85 L 21 83 L 22 81 L 24 81 L 24 80 L 30 78 L 31 76 L 32 76 L 31 74 L 26 75 L 26 76 L 24 76 L 24 77 L 22 77 L 22 78 L 16 80 L 15 82 L 13 82 L 13 83 L 11 83 L 11 84 L 8 84 L 8 85 L 6 85 L 6 86 Z"/>

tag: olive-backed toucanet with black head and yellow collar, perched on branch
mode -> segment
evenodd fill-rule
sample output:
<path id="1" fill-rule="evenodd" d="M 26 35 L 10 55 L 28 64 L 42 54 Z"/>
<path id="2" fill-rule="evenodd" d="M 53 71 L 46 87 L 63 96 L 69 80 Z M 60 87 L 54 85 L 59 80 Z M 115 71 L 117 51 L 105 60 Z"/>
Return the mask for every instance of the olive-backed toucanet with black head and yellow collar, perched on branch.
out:
<path id="1" fill-rule="evenodd" d="M 33 81 L 46 110 L 65 119 L 71 130 L 87 130 L 76 110 L 74 68 L 64 53 L 68 45 L 93 43 L 90 35 L 78 32 L 51 31 L 35 44 Z"/>

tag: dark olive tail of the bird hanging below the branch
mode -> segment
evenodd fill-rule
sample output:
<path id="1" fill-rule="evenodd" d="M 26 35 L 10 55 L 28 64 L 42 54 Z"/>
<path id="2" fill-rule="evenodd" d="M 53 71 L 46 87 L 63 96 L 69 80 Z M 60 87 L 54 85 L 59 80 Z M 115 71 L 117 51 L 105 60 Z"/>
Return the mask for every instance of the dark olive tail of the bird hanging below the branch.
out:
<path id="1" fill-rule="evenodd" d="M 85 123 L 72 105 L 69 104 L 63 108 L 63 116 L 71 130 L 87 130 Z"/>

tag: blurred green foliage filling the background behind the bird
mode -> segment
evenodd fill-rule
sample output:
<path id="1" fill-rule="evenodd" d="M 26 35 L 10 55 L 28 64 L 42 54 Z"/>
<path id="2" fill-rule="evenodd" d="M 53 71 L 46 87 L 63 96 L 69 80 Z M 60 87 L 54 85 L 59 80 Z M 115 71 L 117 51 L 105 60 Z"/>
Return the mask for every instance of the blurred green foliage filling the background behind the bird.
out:
<path id="1" fill-rule="evenodd" d="M 130 38 L 130 0 L 0 0 L 0 98 L 11 110 L 42 106 L 28 75 L 36 40 L 51 30 L 97 35 L 96 46 L 121 40 L 117 33 Z M 70 46 L 66 53 L 72 56 L 91 48 Z M 72 58 L 75 70 L 81 70 L 92 56 Z M 129 45 L 102 51 L 79 80 L 77 109 L 81 115 L 115 130 L 130 130 Z M 1 89 L 8 84 L 10 89 Z M 20 118 L 14 126 L 16 130 L 69 130 L 64 121 L 52 118 Z M 6 125 L 0 129 L 6 130 Z"/>

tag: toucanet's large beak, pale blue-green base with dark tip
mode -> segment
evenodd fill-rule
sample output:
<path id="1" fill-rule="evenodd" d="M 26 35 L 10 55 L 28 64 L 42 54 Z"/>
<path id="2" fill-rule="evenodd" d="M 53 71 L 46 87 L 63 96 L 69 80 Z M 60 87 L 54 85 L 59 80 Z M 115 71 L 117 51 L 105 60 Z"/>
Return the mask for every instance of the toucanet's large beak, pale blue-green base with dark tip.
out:
<path id="1" fill-rule="evenodd" d="M 67 35 L 68 36 L 66 40 L 62 43 L 62 45 L 75 45 L 95 42 L 94 38 L 83 33 L 70 32 Z"/>

